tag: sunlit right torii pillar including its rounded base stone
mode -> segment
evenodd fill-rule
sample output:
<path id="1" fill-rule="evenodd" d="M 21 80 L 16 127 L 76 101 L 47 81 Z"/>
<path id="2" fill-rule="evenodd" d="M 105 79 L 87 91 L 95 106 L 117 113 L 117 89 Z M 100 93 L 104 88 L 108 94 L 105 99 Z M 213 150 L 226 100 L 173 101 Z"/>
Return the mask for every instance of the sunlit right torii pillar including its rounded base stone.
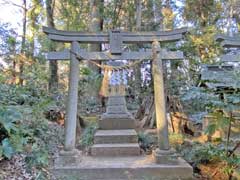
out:
<path id="1" fill-rule="evenodd" d="M 168 137 L 168 121 L 164 94 L 163 67 L 161 60 L 161 48 L 158 41 L 152 43 L 153 61 L 153 86 L 154 103 L 156 112 L 158 149 L 154 152 L 154 158 L 158 164 L 174 163 L 176 160 L 175 151 L 170 149 Z"/>

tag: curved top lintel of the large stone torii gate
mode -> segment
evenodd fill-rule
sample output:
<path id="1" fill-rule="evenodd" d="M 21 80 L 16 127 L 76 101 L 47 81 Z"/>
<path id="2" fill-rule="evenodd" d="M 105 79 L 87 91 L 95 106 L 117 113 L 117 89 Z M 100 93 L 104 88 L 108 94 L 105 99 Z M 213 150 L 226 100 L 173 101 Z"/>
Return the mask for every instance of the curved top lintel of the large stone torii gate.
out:
<path id="1" fill-rule="evenodd" d="M 183 34 L 187 32 L 187 28 L 180 28 L 172 31 L 156 31 L 156 32 L 122 32 L 113 30 L 110 33 L 104 32 L 76 32 L 62 31 L 49 27 L 43 27 L 43 32 L 48 35 L 48 38 L 53 41 L 72 42 L 78 41 L 82 43 L 109 43 L 111 37 L 119 40 L 122 43 L 151 43 L 153 41 L 178 41 L 182 39 Z"/>

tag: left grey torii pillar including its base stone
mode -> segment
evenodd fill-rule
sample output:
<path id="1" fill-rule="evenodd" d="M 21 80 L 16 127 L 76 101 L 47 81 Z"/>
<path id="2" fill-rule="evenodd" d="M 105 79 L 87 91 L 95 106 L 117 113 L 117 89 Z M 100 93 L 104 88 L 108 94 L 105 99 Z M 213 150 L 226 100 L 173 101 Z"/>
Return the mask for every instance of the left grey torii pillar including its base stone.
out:
<path id="1" fill-rule="evenodd" d="M 71 43 L 71 51 L 76 52 L 79 47 L 78 42 Z M 80 152 L 76 146 L 76 126 L 77 126 L 77 103 L 78 103 L 78 81 L 79 81 L 79 60 L 74 53 L 70 54 L 70 72 L 68 82 L 68 100 L 66 121 L 64 128 L 64 149 L 60 152 L 61 164 L 71 164 L 80 161 Z"/>

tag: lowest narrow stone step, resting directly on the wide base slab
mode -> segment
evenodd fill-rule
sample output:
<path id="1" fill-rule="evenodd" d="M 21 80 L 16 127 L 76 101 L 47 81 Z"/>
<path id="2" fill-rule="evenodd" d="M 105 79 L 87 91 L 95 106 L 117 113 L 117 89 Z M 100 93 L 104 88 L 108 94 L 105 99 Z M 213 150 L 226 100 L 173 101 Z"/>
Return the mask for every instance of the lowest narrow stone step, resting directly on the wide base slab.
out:
<path id="1" fill-rule="evenodd" d="M 138 143 L 94 144 L 91 147 L 92 156 L 134 156 L 140 155 Z"/>

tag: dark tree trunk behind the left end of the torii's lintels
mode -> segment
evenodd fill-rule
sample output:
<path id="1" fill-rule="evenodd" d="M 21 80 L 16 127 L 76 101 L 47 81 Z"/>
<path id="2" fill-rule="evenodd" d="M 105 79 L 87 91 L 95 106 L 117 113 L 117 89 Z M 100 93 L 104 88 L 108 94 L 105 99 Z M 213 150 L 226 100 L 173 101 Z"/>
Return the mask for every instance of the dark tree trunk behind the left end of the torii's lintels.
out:
<path id="1" fill-rule="evenodd" d="M 47 13 L 47 25 L 50 28 L 55 28 L 53 10 L 55 0 L 46 0 L 46 13 Z M 54 51 L 55 45 L 53 42 L 50 43 L 49 51 Z M 58 63 L 57 61 L 49 62 L 50 78 L 48 81 L 49 91 L 54 92 L 58 87 Z"/>

